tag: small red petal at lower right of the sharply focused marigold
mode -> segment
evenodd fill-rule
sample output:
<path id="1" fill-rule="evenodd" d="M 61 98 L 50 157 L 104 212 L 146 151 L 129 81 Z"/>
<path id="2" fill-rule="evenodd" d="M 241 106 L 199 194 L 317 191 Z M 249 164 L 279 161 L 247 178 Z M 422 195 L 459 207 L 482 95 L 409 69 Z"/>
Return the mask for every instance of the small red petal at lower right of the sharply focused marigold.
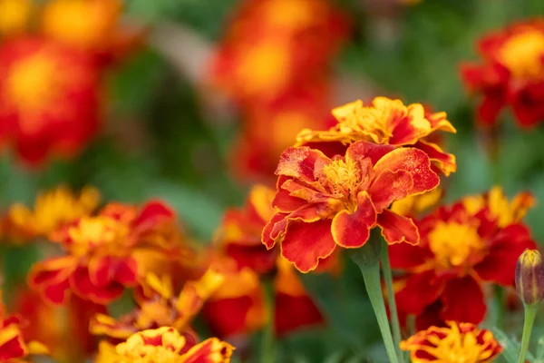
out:
<path id="1" fill-rule="evenodd" d="M 378 215 L 378 225 L 382 228 L 382 235 L 389 244 L 406 242 L 416 245 L 419 243 L 419 231 L 412 218 L 384 210 Z"/>

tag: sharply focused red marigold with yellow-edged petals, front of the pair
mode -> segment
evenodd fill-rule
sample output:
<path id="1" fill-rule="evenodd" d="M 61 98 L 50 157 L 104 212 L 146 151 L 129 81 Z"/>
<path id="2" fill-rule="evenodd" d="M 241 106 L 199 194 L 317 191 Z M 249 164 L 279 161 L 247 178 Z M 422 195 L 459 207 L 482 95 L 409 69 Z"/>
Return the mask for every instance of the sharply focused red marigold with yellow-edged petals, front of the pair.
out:
<path id="1" fill-rule="evenodd" d="M 363 246 L 376 226 L 390 244 L 417 244 L 412 219 L 387 208 L 440 182 L 421 150 L 372 142 L 352 143 L 344 157 L 333 159 L 306 146 L 289 148 L 276 173 L 277 213 L 263 242 L 268 249 L 279 243 L 282 256 L 302 272 L 315 270 L 336 246 Z"/>

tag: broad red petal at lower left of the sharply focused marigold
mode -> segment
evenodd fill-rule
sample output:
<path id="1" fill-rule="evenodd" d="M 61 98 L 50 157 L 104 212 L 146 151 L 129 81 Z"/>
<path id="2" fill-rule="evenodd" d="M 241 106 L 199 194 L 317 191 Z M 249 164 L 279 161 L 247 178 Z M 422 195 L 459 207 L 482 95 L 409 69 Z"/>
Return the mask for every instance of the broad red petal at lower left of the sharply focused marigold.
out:
<path id="1" fill-rule="evenodd" d="M 315 270 L 319 260 L 330 256 L 336 243 L 331 234 L 331 221 L 311 223 L 291 221 L 281 243 L 283 257 L 294 263 L 297 270 Z"/>

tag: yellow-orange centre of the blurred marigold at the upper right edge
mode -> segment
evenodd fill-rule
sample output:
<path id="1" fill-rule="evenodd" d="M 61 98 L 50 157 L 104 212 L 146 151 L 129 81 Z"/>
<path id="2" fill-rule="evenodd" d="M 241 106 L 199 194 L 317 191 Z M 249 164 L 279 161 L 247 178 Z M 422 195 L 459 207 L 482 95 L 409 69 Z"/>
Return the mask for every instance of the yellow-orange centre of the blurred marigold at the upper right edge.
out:
<path id="1" fill-rule="evenodd" d="M 516 34 L 502 45 L 499 60 L 516 78 L 541 78 L 544 72 L 544 33 L 529 30 Z"/>

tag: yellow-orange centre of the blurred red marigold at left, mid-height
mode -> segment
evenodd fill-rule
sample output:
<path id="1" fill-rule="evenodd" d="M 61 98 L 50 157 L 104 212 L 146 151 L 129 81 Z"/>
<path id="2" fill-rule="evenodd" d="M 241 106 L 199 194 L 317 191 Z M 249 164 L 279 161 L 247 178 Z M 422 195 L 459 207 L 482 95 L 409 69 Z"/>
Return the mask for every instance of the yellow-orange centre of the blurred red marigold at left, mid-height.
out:
<path id="1" fill-rule="evenodd" d="M 79 224 L 68 230 L 73 240 L 71 250 L 74 255 L 81 256 L 97 248 L 107 254 L 126 253 L 129 229 L 125 224 L 108 217 L 86 217 Z"/>

